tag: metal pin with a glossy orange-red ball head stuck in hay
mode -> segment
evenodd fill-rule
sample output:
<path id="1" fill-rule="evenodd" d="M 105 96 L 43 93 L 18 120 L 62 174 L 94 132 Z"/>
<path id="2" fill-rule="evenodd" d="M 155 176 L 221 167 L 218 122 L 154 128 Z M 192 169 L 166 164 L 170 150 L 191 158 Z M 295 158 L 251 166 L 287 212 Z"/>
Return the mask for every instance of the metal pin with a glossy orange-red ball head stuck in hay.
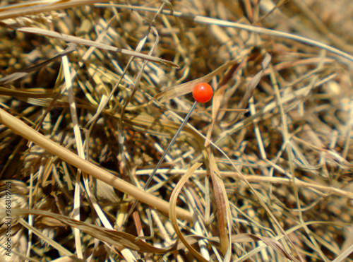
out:
<path id="1" fill-rule="evenodd" d="M 162 157 L 160 157 L 160 161 L 158 161 L 157 165 L 155 166 L 155 169 L 153 169 L 152 173 L 150 174 L 150 177 L 146 181 L 145 186 L 143 186 L 143 190 L 146 190 L 148 185 L 152 181 L 153 176 L 157 172 L 158 167 L 160 167 L 160 165 L 162 164 L 162 162 L 164 160 L 164 157 L 167 155 L 169 149 L 172 147 L 174 142 L 177 140 L 177 137 L 179 136 L 179 133 L 184 128 L 186 122 L 189 120 L 189 117 L 191 116 L 191 114 L 193 112 L 193 109 L 195 109 L 197 103 L 198 102 L 201 102 L 201 103 L 208 102 L 212 98 L 212 96 L 213 96 L 213 88 L 210 85 L 208 85 L 208 83 L 198 83 L 198 84 L 195 85 L 195 87 L 193 88 L 193 98 L 195 99 L 195 102 L 193 103 L 193 106 L 191 107 L 189 113 L 186 114 L 186 117 L 185 117 L 184 121 L 179 126 L 179 129 L 177 130 L 177 133 L 175 133 L 175 135 L 173 136 L 172 140 L 169 142 L 169 145 L 164 150 L 164 153 L 163 153 Z M 128 217 L 131 215 L 133 210 L 136 208 L 137 203 L 138 203 L 137 200 L 133 202 L 133 206 L 131 207 L 131 209 L 128 212 Z"/>

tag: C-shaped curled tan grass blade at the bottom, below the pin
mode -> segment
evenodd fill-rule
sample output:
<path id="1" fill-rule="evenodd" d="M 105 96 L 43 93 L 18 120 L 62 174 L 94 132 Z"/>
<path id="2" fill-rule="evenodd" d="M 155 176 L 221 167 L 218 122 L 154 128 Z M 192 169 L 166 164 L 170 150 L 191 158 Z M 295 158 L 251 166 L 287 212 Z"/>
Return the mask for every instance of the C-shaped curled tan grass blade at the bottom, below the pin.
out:
<path id="1" fill-rule="evenodd" d="M 169 219 L 172 222 L 172 225 L 174 227 L 175 232 L 177 233 L 177 235 L 179 237 L 179 240 L 181 242 L 183 242 L 183 244 L 186 246 L 187 249 L 189 249 L 191 254 L 193 254 L 193 256 L 195 256 L 195 258 L 198 259 L 198 261 L 207 262 L 205 260 L 205 258 L 203 258 L 203 256 L 201 256 L 201 254 L 199 254 L 198 251 L 196 251 L 196 249 L 194 249 L 189 244 L 189 242 L 186 241 L 183 234 L 181 234 L 179 227 L 178 227 L 177 216 L 175 213 L 175 210 L 177 208 L 178 196 L 179 196 L 181 189 L 183 189 L 184 184 L 186 183 L 186 181 L 188 181 L 188 179 L 191 177 L 193 172 L 195 172 L 196 169 L 198 169 L 198 167 L 201 167 L 201 165 L 202 164 L 199 162 L 196 162 L 195 164 L 193 164 L 192 167 L 190 167 L 189 170 L 184 174 L 184 176 L 181 177 L 177 186 L 175 186 L 173 193 L 172 193 L 172 196 L 170 196 L 170 200 L 169 200 Z"/>

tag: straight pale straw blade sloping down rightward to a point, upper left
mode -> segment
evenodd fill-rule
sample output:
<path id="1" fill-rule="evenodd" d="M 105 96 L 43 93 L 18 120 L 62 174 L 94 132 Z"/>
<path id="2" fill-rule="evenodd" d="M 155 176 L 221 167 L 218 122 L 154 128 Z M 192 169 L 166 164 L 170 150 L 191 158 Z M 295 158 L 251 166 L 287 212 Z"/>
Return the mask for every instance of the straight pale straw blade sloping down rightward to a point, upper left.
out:
<path id="1" fill-rule="evenodd" d="M 16 30 L 20 31 L 20 32 L 30 32 L 32 34 L 44 35 L 44 36 L 47 36 L 47 37 L 54 37 L 54 38 L 58 38 L 59 40 L 63 40 L 65 42 L 73 42 L 73 43 L 76 43 L 76 44 L 84 44 L 84 45 L 89 46 L 89 47 L 97 47 L 97 48 L 108 50 L 108 51 L 112 51 L 112 52 L 119 52 L 121 54 L 127 54 L 129 56 L 136 56 L 136 57 L 139 57 L 140 59 L 145 59 L 145 60 L 152 61 L 152 62 L 155 62 L 155 63 L 166 64 L 168 66 L 174 66 L 174 67 L 179 68 L 179 66 L 177 64 L 174 64 L 172 61 L 167 61 L 167 60 L 155 57 L 155 56 L 149 56 L 148 54 L 142 54 L 142 53 L 134 52 L 134 51 L 131 51 L 131 50 L 128 50 L 128 49 L 121 49 L 119 47 L 113 47 L 113 46 L 111 46 L 109 44 L 102 44 L 102 43 L 95 42 L 95 41 L 92 41 L 92 40 L 87 40 L 87 39 L 84 39 L 84 38 L 75 37 L 73 35 L 66 35 L 64 33 L 54 32 L 54 31 L 50 31 L 50 30 L 45 30 L 45 29 L 42 29 L 42 28 L 23 27 L 23 28 L 18 28 Z"/>

